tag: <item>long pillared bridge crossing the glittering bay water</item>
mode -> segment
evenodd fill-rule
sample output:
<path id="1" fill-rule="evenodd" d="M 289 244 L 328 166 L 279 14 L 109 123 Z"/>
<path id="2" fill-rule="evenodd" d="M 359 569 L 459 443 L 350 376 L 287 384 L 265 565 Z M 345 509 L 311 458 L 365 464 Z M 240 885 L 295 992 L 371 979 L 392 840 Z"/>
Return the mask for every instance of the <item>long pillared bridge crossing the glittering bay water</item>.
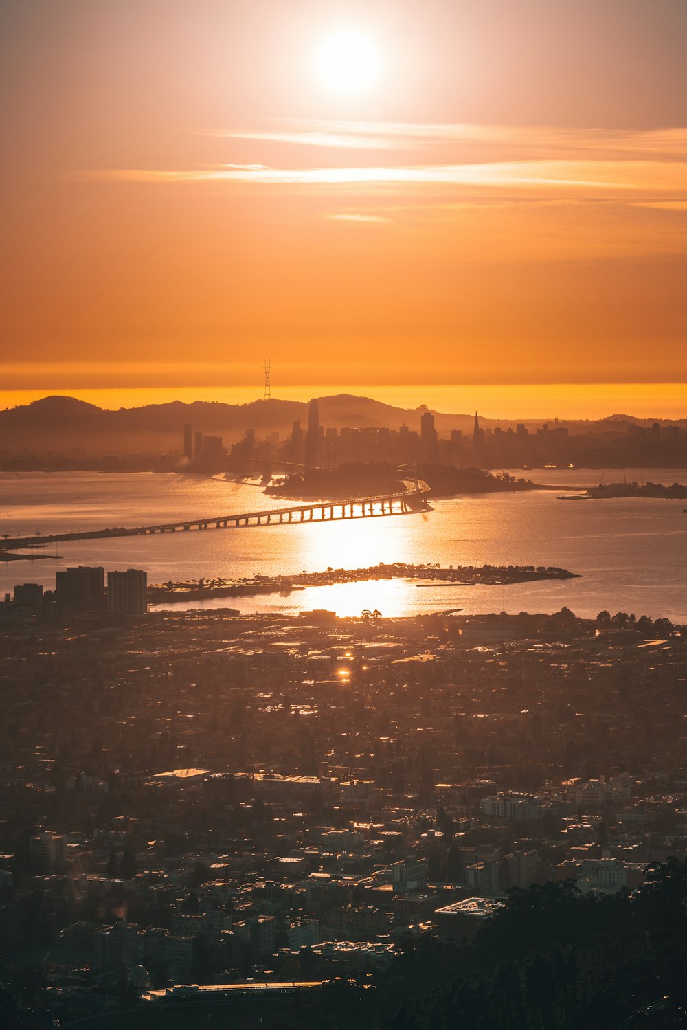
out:
<path id="1" fill-rule="evenodd" d="M 41 544 L 66 543 L 73 540 L 99 540 L 110 537 L 144 537 L 157 533 L 188 529 L 228 529 L 241 526 L 282 525 L 302 522 L 331 522 L 345 518 L 371 518 L 380 515 L 406 515 L 426 508 L 426 483 L 408 481 L 407 489 L 370 497 L 348 497 L 345 501 L 316 501 L 291 508 L 270 508 L 262 512 L 234 515 L 212 515 L 159 525 L 114 526 L 84 533 L 37 534 L 34 537 L 13 537 L 0 540 L 0 551 L 15 551 Z M 316 514 L 319 513 L 319 514 Z M 328 515 L 329 513 L 329 515 Z"/>

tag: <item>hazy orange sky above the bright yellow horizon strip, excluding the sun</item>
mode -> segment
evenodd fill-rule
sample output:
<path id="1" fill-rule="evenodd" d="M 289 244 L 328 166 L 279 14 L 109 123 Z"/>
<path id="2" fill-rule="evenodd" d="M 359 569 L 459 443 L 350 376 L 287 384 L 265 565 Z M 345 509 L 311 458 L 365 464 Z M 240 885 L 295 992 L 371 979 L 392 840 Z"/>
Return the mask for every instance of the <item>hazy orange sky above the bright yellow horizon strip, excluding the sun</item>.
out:
<path id="1" fill-rule="evenodd" d="M 687 380 L 684 0 L 7 0 L 0 40 L 5 388 Z"/>

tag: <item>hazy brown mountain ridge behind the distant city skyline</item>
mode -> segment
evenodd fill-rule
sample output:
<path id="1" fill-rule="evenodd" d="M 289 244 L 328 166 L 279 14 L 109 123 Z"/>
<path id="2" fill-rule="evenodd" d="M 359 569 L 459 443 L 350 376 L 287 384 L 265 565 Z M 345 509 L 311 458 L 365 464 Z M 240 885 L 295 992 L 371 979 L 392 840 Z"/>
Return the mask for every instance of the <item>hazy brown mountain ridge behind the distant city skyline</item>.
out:
<path id="1" fill-rule="evenodd" d="M 362 428 L 387 425 L 399 428 L 404 423 L 419 431 L 420 417 L 426 410 L 394 408 L 371 398 L 339 393 L 319 398 L 319 416 L 324 426 Z M 436 413 L 436 426 L 442 436 L 451 430 L 471 434 L 474 414 Z M 194 431 L 221 436 L 229 445 L 240 440 L 246 428 L 256 435 L 277 431 L 290 433 L 295 419 L 305 428 L 308 405 L 299 401 L 253 401 L 250 404 L 217 404 L 196 401 L 183 404 L 146 405 L 109 411 L 77 401 L 73 397 L 45 397 L 32 404 L 0 411 L 0 453 L 2 454 L 161 454 L 180 451 L 184 423 Z M 484 428 L 501 425 L 514 427 L 523 421 L 528 428 L 541 426 L 541 420 L 480 418 Z M 553 420 L 551 420 L 553 421 Z M 663 424 L 665 419 L 659 419 Z M 622 433 L 630 424 L 650 425 L 652 419 L 631 415 L 612 415 L 598 421 L 558 421 L 572 433 Z M 687 425 L 687 419 L 674 424 Z"/>

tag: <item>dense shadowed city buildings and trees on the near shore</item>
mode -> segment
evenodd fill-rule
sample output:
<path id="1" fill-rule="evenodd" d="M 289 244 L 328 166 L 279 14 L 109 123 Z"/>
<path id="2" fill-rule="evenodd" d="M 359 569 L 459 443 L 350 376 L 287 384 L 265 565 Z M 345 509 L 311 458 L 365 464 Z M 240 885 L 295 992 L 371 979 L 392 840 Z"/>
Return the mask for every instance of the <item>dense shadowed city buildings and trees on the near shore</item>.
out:
<path id="1" fill-rule="evenodd" d="M 487 933 L 506 947 L 513 898 L 643 897 L 687 855 L 684 627 L 147 613 L 136 570 L 94 611 L 102 569 L 62 575 L 60 617 L 20 592 L 0 621 L 2 1005 L 23 1026 L 228 1005 L 348 1026 L 368 988 L 381 1025 L 423 955 L 430 984 Z"/>

